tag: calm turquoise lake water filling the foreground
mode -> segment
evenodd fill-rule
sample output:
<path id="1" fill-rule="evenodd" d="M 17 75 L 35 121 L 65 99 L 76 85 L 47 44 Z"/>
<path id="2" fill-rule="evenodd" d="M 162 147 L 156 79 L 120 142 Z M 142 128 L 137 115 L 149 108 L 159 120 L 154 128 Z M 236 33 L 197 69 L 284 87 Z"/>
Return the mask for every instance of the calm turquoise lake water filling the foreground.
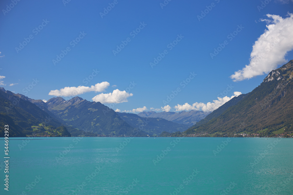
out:
<path id="1" fill-rule="evenodd" d="M 0 194 L 293 194 L 293 139 L 20 139 Z"/>

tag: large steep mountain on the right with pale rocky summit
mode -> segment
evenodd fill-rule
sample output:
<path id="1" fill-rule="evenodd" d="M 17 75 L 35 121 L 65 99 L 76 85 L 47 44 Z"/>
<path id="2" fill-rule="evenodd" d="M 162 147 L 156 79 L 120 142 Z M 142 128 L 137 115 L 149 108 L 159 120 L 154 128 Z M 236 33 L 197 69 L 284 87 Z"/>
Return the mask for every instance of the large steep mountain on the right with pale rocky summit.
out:
<path id="1" fill-rule="evenodd" d="M 293 60 L 272 70 L 252 92 L 233 98 L 184 134 L 293 131 Z M 224 110 L 223 112 L 221 110 Z"/>

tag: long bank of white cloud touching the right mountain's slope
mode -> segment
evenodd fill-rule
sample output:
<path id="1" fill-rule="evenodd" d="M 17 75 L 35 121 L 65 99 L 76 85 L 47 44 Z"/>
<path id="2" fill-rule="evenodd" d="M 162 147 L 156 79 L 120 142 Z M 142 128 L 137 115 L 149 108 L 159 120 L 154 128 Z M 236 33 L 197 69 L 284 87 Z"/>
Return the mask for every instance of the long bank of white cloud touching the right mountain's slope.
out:
<path id="1" fill-rule="evenodd" d="M 218 100 L 213 100 L 213 102 L 208 102 L 207 104 L 202 102 L 195 102 L 192 105 L 185 103 L 183 105 L 177 104 L 177 106 L 174 106 L 174 108 L 176 109 L 176 111 L 202 110 L 204 112 L 210 112 L 216 110 L 230 99 L 237 97 L 241 94 L 241 92 L 234 92 L 234 96 L 225 96 L 223 98 L 218 97 Z"/>

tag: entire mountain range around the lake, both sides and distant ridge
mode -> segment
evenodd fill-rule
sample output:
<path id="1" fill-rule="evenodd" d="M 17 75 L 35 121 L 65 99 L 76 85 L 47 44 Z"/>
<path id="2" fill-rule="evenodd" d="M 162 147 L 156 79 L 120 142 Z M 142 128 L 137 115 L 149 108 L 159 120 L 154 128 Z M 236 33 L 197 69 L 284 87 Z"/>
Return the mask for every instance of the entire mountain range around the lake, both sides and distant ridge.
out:
<path id="1" fill-rule="evenodd" d="M 0 87 L 0 125 L 10 137 L 189 136 L 293 132 L 293 61 L 272 70 L 252 92 L 234 97 L 211 113 L 203 111 L 119 113 L 78 96 L 47 102 Z M 4 137 L 4 128 L 0 129 Z"/>

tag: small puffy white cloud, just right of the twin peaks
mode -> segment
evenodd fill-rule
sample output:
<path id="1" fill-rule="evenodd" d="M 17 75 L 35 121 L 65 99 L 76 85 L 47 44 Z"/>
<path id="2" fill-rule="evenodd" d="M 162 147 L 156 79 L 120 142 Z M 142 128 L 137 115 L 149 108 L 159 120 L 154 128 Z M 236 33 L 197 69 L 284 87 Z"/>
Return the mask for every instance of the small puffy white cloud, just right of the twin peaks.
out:
<path id="1" fill-rule="evenodd" d="M 127 102 L 127 98 L 133 96 L 133 94 L 130 94 L 126 91 L 120 91 L 119 89 L 115 89 L 113 93 L 108 94 L 98 94 L 92 98 L 95 102 L 100 103 L 122 103 Z"/>

